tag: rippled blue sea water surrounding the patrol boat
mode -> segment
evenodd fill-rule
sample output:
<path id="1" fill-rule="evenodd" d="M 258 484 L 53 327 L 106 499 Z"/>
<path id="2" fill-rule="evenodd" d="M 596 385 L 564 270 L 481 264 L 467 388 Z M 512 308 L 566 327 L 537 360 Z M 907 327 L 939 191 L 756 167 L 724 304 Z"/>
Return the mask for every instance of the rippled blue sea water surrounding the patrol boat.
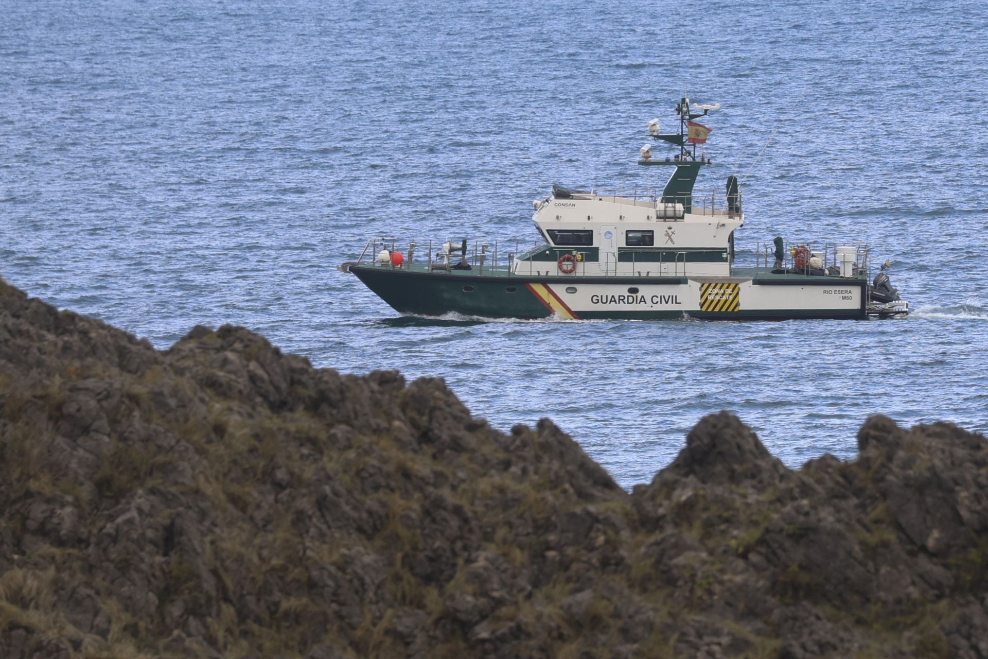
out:
<path id="1" fill-rule="evenodd" d="M 0 7 L 0 276 L 58 307 L 162 349 L 233 323 L 442 376 L 625 487 L 720 409 L 791 466 L 853 457 L 878 412 L 988 430 L 984 2 Z M 436 320 L 336 270 L 371 237 L 531 243 L 552 184 L 661 186 L 638 148 L 684 94 L 721 105 L 698 188 L 744 178 L 739 264 L 776 235 L 866 242 L 913 313 Z"/>

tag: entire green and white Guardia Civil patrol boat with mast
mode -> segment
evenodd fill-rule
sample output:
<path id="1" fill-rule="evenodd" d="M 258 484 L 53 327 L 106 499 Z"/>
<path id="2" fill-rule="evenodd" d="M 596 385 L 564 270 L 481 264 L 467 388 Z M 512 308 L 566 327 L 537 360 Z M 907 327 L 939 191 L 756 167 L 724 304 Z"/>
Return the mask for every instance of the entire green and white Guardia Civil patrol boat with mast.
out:
<path id="1" fill-rule="evenodd" d="M 755 263 L 735 265 L 734 232 L 745 216 L 737 177 L 722 193 L 695 192 L 700 150 L 711 128 L 696 120 L 717 105 L 676 104 L 677 132 L 648 122 L 653 143 L 677 152 L 654 157 L 650 144 L 638 164 L 672 170 L 659 191 L 573 190 L 552 187 L 535 200 L 534 247 L 466 240 L 411 242 L 404 254 L 394 238 L 371 238 L 355 262 L 356 275 L 400 313 L 481 318 L 754 320 L 867 318 L 904 315 L 885 266 L 870 280 L 862 243 L 786 245 L 782 237 L 755 244 Z M 416 252 L 426 248 L 426 258 Z M 406 256 L 407 255 L 407 256 Z"/>

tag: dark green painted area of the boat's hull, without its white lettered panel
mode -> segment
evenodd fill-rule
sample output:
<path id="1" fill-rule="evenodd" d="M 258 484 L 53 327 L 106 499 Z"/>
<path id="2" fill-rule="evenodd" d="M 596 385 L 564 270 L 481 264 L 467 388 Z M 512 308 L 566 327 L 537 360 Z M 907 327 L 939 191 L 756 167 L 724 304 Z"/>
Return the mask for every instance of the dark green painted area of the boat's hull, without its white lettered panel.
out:
<path id="1" fill-rule="evenodd" d="M 559 313 L 558 304 L 549 298 L 544 284 L 568 284 L 558 277 L 537 278 L 510 275 L 507 271 L 485 271 L 483 275 L 471 272 L 447 273 L 409 271 L 374 266 L 352 266 L 350 272 L 361 282 L 400 313 L 441 316 L 458 313 L 483 318 L 547 318 L 553 313 L 563 318 L 608 320 L 670 320 L 685 317 L 700 320 L 787 320 L 796 318 L 861 319 L 865 318 L 864 306 L 844 309 L 756 309 L 741 308 L 730 312 L 710 312 L 699 309 L 651 309 L 651 310 L 577 310 L 568 307 Z M 686 279 L 652 278 L 643 283 L 632 278 L 579 278 L 579 285 L 644 286 L 685 285 Z M 765 285 L 827 285 L 831 281 L 804 279 L 799 281 L 766 281 Z M 859 286 L 857 283 L 845 286 Z M 863 290 L 864 292 L 864 290 Z M 555 299 L 558 299 L 556 297 Z M 546 301 L 547 300 L 547 301 Z M 553 308 L 553 306 L 555 308 Z M 568 312 L 568 313 L 567 313 Z M 572 315 L 569 315 L 572 314 Z"/>

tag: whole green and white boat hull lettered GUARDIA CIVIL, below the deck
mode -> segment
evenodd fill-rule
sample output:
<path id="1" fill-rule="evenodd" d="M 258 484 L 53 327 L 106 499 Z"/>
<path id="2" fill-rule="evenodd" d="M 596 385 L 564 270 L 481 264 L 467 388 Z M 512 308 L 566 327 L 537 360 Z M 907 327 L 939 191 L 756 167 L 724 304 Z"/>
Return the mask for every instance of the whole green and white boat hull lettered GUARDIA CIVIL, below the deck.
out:
<path id="1" fill-rule="evenodd" d="M 524 277 L 355 266 L 350 272 L 400 313 L 609 320 L 864 319 L 864 281 L 709 282 L 663 278 Z M 732 278 L 739 280 L 742 278 Z"/>

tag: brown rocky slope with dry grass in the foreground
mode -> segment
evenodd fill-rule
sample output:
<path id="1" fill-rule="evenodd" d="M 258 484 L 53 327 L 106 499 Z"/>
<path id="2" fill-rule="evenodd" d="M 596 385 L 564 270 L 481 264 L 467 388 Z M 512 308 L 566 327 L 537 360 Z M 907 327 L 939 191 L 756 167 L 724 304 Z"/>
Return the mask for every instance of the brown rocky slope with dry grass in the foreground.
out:
<path id="1" fill-rule="evenodd" d="M 442 379 L 0 281 L 0 657 L 988 659 L 985 439 L 858 447 L 788 469 L 721 412 L 628 493 Z"/>

